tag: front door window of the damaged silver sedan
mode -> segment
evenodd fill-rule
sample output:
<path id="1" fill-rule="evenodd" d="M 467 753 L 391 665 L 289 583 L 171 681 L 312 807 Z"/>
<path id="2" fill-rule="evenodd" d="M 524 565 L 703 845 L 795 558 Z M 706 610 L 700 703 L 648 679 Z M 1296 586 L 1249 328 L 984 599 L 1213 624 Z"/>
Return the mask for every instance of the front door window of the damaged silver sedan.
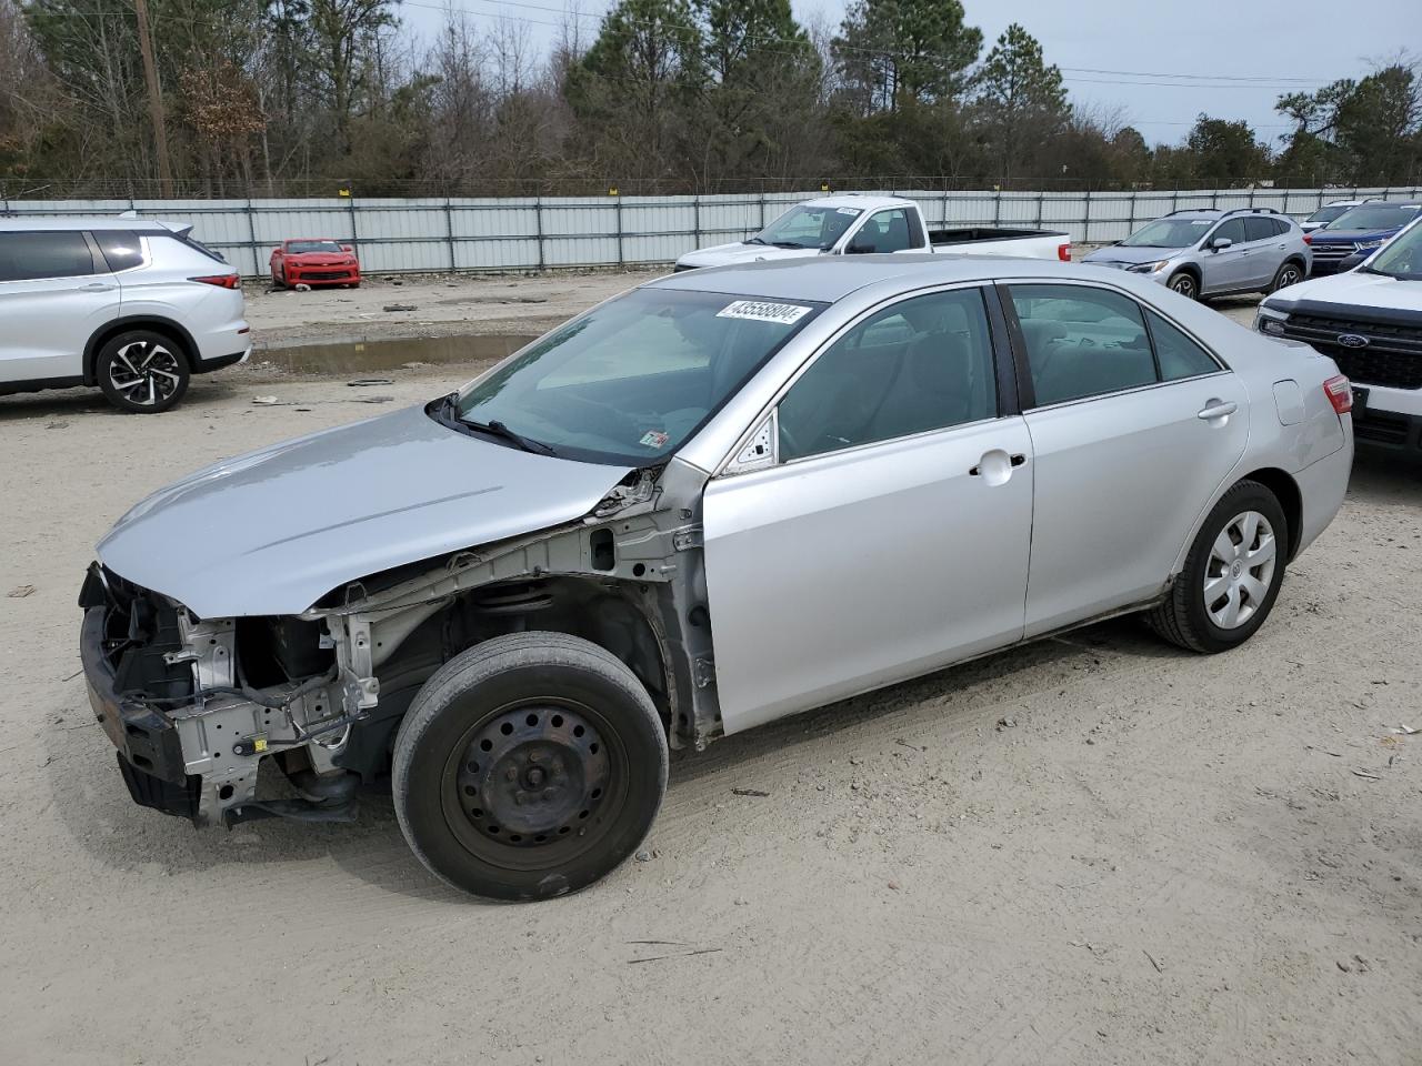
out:
<path id="1" fill-rule="evenodd" d="M 855 325 L 791 387 L 781 462 L 995 416 L 981 291 L 916 296 Z"/>

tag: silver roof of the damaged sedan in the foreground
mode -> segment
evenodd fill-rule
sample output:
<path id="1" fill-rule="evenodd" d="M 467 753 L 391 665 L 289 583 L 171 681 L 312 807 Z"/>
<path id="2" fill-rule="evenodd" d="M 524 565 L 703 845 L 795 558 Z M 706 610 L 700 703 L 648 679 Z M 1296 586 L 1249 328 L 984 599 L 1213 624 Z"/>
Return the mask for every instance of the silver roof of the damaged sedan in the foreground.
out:
<path id="1" fill-rule="evenodd" d="M 813 256 L 683 270 L 647 281 L 641 287 L 835 303 L 866 286 L 902 277 L 912 280 L 910 287 L 917 289 L 954 281 L 988 281 L 997 277 L 1081 280 L 1084 276 L 1095 274 L 1116 279 L 1119 273 L 1054 259 L 1014 256 Z"/>

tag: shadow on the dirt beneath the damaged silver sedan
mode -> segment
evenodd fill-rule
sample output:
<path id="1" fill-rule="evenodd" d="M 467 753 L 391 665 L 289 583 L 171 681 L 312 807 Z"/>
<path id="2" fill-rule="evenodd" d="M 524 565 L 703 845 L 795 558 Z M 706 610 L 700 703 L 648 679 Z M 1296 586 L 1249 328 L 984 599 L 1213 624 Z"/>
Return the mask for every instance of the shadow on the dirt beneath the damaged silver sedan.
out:
<path id="1" fill-rule="evenodd" d="M 954 722 L 956 739 L 985 743 L 971 731 L 991 728 L 1004 682 L 1024 671 L 1041 671 L 1074 658 L 1176 658 L 1185 655 L 1153 637 L 1132 618 L 1101 623 L 1065 637 L 1018 645 L 863 696 L 840 701 L 759 729 L 724 738 L 700 755 L 673 760 L 668 792 L 707 777 L 734 783 L 734 769 L 747 760 L 793 752 L 803 765 L 843 753 L 843 733 L 865 729 L 866 746 L 883 743 L 890 731 L 917 735 Z M 405 844 L 395 820 L 388 783 L 361 790 L 353 823 L 301 823 L 270 819 L 223 831 L 193 830 L 182 819 L 132 803 L 114 765 L 115 752 L 94 722 L 82 689 L 71 678 L 63 711 L 46 729 L 44 773 L 53 807 L 71 839 L 94 860 L 114 870 L 156 867 L 166 876 L 216 873 L 230 866 L 334 863 L 360 881 L 401 895 L 468 904 L 472 897 L 429 874 Z M 963 702 L 963 706 L 953 704 Z M 58 721 L 55 721 L 58 718 Z M 280 775 L 273 770 L 279 780 Z"/>

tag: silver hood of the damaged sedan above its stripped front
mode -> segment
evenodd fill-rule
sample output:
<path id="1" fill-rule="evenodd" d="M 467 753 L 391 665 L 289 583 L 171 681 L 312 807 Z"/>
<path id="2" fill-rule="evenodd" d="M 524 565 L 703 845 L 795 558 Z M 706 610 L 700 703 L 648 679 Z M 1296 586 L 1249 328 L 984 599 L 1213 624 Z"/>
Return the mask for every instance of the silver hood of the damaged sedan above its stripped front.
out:
<path id="1" fill-rule="evenodd" d="M 582 517 L 629 470 L 466 436 L 415 407 L 159 489 L 98 556 L 205 618 L 297 614 L 368 574 Z"/>

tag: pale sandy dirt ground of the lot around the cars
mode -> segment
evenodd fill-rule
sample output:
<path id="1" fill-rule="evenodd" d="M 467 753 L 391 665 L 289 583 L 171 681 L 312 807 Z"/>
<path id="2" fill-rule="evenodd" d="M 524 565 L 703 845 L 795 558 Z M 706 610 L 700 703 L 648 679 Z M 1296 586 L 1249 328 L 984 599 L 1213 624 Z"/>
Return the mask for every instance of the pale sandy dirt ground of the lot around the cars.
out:
<path id="1" fill-rule="evenodd" d="M 289 298 L 264 335 L 310 328 Z M 0 399 L 0 1060 L 1422 1063 L 1422 478 L 1378 463 L 1244 648 L 1122 620 L 725 739 L 574 897 L 456 895 L 378 795 L 354 826 L 134 806 L 77 674 L 94 542 L 474 370 Z"/>

